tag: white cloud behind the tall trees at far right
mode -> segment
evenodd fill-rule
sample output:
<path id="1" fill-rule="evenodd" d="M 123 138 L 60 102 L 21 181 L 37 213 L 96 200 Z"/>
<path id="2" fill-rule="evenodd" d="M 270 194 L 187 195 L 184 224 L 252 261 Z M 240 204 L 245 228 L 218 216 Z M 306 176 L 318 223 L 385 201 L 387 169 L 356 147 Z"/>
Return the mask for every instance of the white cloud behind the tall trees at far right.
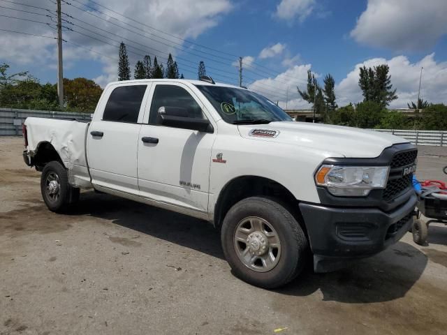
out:
<path id="1" fill-rule="evenodd" d="M 409 101 L 418 98 L 420 68 L 423 67 L 422 86 L 420 96 L 432 103 L 447 103 L 447 61 L 437 62 L 434 54 L 428 54 L 420 61 L 411 63 L 406 56 L 392 59 L 374 58 L 356 64 L 355 68 L 346 75 L 335 87 L 339 106 L 347 103 L 362 101 L 362 92 L 358 87 L 358 75 L 362 66 L 390 66 L 391 83 L 397 89 L 397 100 L 390 107 L 406 107 Z"/>

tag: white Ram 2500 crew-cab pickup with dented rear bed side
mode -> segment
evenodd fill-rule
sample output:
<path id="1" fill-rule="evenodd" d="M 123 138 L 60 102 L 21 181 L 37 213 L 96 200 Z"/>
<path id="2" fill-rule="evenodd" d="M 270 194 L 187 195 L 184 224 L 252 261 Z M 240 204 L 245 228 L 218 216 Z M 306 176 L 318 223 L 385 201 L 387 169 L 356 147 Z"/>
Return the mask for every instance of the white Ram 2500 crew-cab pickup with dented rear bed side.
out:
<path id="1" fill-rule="evenodd" d="M 295 122 L 248 89 L 202 80 L 105 87 L 89 124 L 29 117 L 24 161 L 52 211 L 80 188 L 210 221 L 234 273 L 277 288 L 379 253 L 409 229 L 417 150 L 393 135 Z"/>

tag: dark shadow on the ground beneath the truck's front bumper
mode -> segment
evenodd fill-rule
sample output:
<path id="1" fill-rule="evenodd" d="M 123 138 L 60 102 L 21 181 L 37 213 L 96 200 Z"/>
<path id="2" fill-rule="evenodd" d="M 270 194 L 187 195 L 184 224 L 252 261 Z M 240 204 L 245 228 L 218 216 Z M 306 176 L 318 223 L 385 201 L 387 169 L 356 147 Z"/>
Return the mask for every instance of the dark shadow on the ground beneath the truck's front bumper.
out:
<path id="1" fill-rule="evenodd" d="M 353 262 L 327 274 L 315 274 L 309 266 L 300 277 L 277 290 L 304 297 L 321 290 L 324 301 L 372 303 L 404 297 L 427 266 L 427 256 L 414 246 L 397 242 L 386 251 Z"/>

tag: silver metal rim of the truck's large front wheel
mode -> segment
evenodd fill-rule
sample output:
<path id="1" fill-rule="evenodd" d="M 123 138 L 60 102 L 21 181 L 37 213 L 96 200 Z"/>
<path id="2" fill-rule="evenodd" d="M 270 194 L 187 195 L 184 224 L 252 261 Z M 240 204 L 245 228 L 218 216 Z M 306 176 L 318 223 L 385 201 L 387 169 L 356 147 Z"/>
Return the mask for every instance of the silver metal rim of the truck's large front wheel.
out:
<path id="1" fill-rule="evenodd" d="M 234 247 L 242 264 L 257 272 L 273 269 L 281 257 L 277 231 L 263 218 L 249 216 L 237 223 Z"/>

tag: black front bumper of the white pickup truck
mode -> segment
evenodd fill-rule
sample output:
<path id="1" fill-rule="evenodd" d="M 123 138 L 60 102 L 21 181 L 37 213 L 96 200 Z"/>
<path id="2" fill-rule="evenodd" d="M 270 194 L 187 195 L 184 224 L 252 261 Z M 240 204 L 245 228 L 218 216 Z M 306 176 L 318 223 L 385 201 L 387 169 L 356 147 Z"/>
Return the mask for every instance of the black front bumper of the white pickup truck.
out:
<path id="1" fill-rule="evenodd" d="M 390 212 L 300 203 L 315 271 L 331 271 L 346 260 L 374 255 L 395 244 L 409 230 L 417 200 L 413 193 Z"/>

